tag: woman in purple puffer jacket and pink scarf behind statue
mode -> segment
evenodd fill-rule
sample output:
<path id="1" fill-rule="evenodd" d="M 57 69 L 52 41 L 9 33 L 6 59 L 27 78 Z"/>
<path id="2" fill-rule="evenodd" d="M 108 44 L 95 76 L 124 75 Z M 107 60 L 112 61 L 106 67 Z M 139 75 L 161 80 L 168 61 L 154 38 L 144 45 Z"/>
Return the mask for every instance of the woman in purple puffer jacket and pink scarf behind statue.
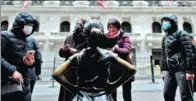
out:
<path id="1" fill-rule="evenodd" d="M 131 40 L 129 36 L 124 35 L 123 30 L 121 29 L 120 22 L 116 18 L 112 18 L 108 21 L 109 33 L 107 37 L 110 38 L 108 43 L 117 43 L 112 47 L 112 51 L 125 61 L 132 63 L 131 61 Z M 115 80 L 122 72 L 118 68 L 113 67 L 111 69 L 111 80 Z M 113 75 L 114 74 L 114 75 Z M 134 81 L 134 76 L 125 84 L 123 87 L 123 99 L 124 101 L 132 101 L 131 88 L 132 82 Z M 115 90 L 112 93 L 112 98 L 114 101 L 117 101 L 117 91 Z"/>

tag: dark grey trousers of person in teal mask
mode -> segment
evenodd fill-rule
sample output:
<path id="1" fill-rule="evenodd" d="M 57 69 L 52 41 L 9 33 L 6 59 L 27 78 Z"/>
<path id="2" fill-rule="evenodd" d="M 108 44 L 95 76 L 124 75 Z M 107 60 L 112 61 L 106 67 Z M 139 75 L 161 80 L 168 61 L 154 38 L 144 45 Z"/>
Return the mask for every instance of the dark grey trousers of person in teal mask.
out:
<path id="1" fill-rule="evenodd" d="M 177 86 L 179 86 L 182 101 L 194 101 L 193 80 L 186 80 L 186 73 L 182 71 L 164 71 L 164 99 L 165 101 L 175 101 Z"/>

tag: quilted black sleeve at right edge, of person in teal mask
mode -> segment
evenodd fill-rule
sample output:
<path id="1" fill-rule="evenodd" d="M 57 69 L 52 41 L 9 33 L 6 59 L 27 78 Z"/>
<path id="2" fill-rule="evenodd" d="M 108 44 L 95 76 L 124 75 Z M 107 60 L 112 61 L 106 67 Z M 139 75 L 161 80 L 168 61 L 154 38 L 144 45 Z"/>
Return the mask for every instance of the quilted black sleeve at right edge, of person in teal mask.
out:
<path id="1" fill-rule="evenodd" d="M 193 47 L 190 36 L 186 32 L 182 32 L 180 36 L 180 41 L 185 51 L 186 59 L 186 72 L 193 73 Z"/>

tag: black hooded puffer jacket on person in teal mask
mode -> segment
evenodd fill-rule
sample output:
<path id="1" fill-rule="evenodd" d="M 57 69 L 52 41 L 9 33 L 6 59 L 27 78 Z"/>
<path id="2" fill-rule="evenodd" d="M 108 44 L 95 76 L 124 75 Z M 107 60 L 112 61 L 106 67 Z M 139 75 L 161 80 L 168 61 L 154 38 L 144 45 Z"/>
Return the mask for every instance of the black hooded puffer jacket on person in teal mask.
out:
<path id="1" fill-rule="evenodd" d="M 193 50 L 190 36 L 177 28 L 177 17 L 163 17 L 171 22 L 171 28 L 162 39 L 161 71 L 186 71 L 193 73 Z M 162 21 L 163 21 L 162 19 Z"/>

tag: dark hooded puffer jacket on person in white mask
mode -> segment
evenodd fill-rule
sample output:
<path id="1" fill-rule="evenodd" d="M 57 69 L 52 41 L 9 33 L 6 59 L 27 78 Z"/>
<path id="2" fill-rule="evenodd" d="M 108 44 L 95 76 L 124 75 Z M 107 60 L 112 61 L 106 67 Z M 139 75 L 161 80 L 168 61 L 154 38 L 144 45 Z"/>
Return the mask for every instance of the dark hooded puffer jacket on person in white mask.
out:
<path id="1" fill-rule="evenodd" d="M 1 70 L 2 79 L 7 79 L 16 70 L 19 71 L 24 78 L 27 78 L 28 67 L 23 63 L 28 48 L 28 41 L 22 29 L 25 24 L 33 23 L 33 31 L 37 28 L 39 23 L 29 13 L 19 13 L 10 31 L 1 32 Z"/>

